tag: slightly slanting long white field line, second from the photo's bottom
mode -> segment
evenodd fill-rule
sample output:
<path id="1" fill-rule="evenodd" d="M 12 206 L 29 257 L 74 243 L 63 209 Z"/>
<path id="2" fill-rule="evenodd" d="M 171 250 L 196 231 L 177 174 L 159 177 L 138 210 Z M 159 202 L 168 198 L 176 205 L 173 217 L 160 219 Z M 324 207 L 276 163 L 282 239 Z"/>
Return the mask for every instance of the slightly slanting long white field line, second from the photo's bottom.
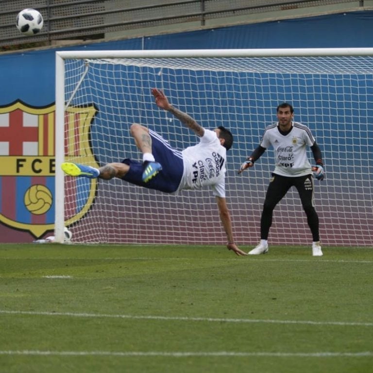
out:
<path id="1" fill-rule="evenodd" d="M 310 320 L 266 320 L 266 319 L 226 319 L 209 317 L 183 317 L 183 316 L 136 316 L 136 315 L 109 315 L 74 312 L 48 312 L 48 311 L 11 311 L 1 310 L 0 314 L 8 315 L 35 315 L 35 316 L 63 316 L 82 318 L 112 318 L 130 320 L 158 320 L 158 321 L 186 321 L 186 322 L 236 322 L 236 323 L 271 323 L 271 324 L 307 324 L 307 325 L 339 325 L 339 326 L 373 326 L 373 322 L 337 322 L 337 321 L 310 321 Z"/>

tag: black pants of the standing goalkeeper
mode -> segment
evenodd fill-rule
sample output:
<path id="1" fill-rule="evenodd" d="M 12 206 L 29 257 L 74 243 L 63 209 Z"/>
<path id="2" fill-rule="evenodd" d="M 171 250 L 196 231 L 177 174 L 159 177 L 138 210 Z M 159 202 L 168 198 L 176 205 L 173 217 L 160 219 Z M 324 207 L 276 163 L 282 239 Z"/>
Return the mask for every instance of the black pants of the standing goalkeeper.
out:
<path id="1" fill-rule="evenodd" d="M 268 186 L 266 198 L 263 205 L 262 216 L 260 219 L 260 238 L 268 239 L 269 231 L 272 225 L 273 210 L 282 198 L 286 195 L 291 186 L 298 190 L 303 209 L 307 216 L 307 223 L 311 230 L 312 240 L 320 241 L 319 235 L 319 216 L 314 207 L 314 182 L 313 175 L 288 177 L 272 173 L 272 179 Z M 284 223 L 284 222 L 283 222 Z M 285 222 L 286 224 L 287 222 Z M 288 224 L 292 224 L 288 222 Z M 284 227 L 285 228 L 285 227 Z M 291 227 L 288 226 L 288 231 Z"/>

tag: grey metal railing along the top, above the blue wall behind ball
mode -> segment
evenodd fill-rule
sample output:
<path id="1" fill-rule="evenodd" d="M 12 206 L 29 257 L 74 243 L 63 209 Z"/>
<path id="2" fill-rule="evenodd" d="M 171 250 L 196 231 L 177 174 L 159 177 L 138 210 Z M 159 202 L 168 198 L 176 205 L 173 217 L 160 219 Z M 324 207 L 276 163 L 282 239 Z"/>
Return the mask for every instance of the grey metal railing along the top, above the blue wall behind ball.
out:
<path id="1" fill-rule="evenodd" d="M 16 28 L 17 13 L 30 7 L 29 0 L 0 0 L 0 48 L 51 45 L 57 40 L 102 39 L 106 34 L 126 35 L 126 30 L 146 29 L 193 22 L 207 26 L 209 20 L 320 5 L 352 3 L 351 0 L 39 0 L 33 7 L 41 12 L 40 34 L 24 36 Z M 356 3 L 356 1 L 355 1 Z M 364 1 L 359 2 L 364 6 Z"/>

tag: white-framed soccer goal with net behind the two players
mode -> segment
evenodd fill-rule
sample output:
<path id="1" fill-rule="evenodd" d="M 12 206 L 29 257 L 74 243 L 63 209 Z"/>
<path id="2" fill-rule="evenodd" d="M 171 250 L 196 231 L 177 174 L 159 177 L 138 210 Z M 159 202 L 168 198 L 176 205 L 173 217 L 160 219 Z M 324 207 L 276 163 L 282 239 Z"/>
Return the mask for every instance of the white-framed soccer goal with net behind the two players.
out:
<path id="1" fill-rule="evenodd" d="M 130 126 L 152 128 L 180 150 L 198 138 L 153 102 L 151 88 L 205 128 L 234 135 L 227 153 L 227 203 L 239 245 L 254 245 L 274 155 L 237 175 L 276 107 L 289 102 L 322 149 L 315 181 L 324 245 L 373 246 L 373 49 L 258 49 L 56 52 L 55 237 L 79 243 L 224 244 L 210 190 L 168 195 L 118 179 L 64 176 L 64 161 L 94 167 L 141 159 Z M 312 153 L 309 151 L 312 163 Z M 276 206 L 271 244 L 308 245 L 299 196 Z"/>

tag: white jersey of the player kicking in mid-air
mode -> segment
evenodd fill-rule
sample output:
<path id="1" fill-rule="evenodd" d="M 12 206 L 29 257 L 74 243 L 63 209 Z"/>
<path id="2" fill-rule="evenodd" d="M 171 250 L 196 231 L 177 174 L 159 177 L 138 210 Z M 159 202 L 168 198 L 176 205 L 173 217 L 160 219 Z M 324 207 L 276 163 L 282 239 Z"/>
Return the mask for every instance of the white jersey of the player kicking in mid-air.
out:
<path id="1" fill-rule="evenodd" d="M 184 173 L 178 191 L 211 186 L 214 195 L 225 197 L 226 149 L 216 132 L 205 129 L 200 142 L 182 154 Z"/>

